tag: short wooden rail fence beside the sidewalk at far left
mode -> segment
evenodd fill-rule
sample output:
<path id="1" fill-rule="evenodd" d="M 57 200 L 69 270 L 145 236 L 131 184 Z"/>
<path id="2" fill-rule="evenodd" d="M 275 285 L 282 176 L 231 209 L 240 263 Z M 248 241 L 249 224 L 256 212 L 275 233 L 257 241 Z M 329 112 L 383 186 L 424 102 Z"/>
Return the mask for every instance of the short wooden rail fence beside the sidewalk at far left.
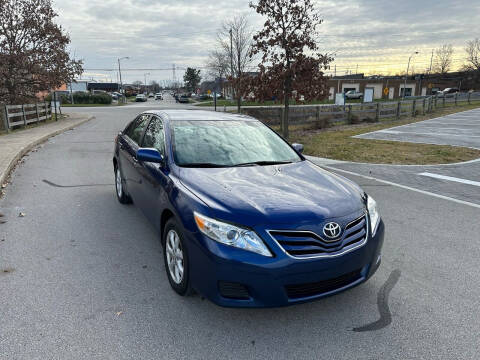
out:
<path id="1" fill-rule="evenodd" d="M 5 105 L 4 110 L 3 122 L 7 132 L 15 126 L 27 126 L 46 121 L 52 116 L 51 106 L 47 103 Z"/>

